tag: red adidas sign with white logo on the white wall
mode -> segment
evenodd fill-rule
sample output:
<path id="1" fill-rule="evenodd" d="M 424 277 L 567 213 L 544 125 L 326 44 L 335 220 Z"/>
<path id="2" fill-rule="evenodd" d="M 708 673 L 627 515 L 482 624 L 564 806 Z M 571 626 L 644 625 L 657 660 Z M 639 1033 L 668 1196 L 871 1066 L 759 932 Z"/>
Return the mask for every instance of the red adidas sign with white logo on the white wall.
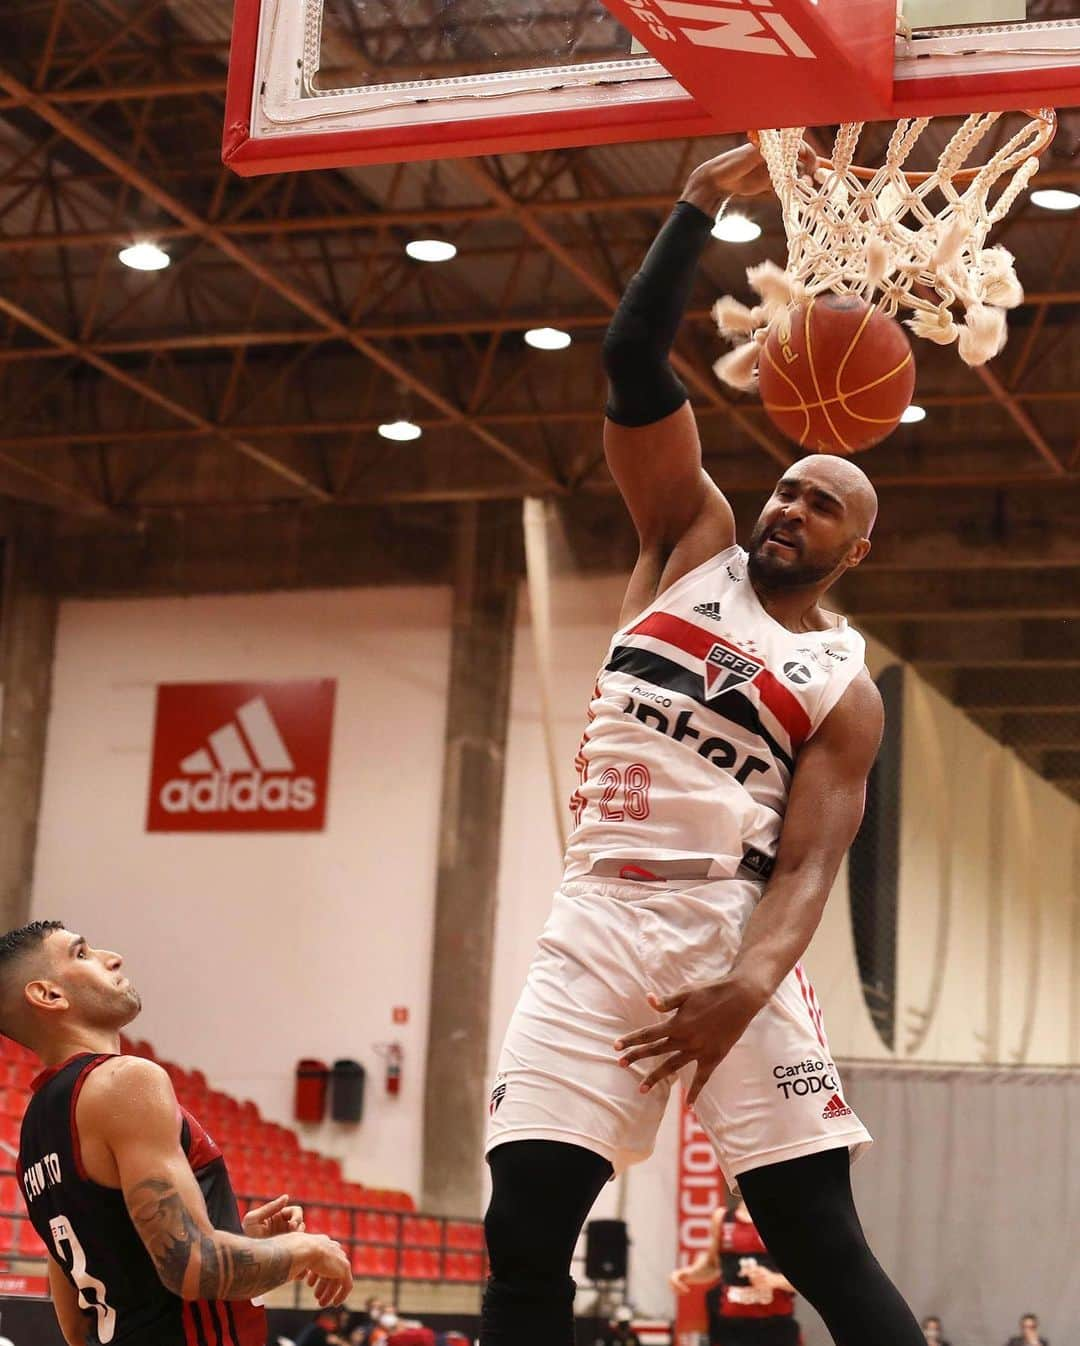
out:
<path id="1" fill-rule="evenodd" d="M 148 832 L 320 832 L 331 678 L 158 688 Z"/>

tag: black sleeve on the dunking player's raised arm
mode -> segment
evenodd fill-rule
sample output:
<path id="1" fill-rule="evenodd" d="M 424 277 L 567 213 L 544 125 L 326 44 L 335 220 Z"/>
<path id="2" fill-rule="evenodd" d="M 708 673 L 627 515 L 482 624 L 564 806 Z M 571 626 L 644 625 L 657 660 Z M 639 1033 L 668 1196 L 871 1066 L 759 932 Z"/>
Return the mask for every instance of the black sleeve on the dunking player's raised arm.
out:
<path id="1" fill-rule="evenodd" d="M 687 400 L 668 357 L 712 223 L 688 201 L 677 202 L 623 292 L 603 338 L 607 419 L 617 425 L 650 425 Z"/>

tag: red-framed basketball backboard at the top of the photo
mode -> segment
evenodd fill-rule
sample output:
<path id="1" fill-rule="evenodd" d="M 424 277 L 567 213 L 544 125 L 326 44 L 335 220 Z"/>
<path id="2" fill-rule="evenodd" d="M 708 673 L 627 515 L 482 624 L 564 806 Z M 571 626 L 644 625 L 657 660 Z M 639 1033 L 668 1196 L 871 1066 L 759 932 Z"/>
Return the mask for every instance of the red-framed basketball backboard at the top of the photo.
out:
<path id="1" fill-rule="evenodd" d="M 988 19 L 949 28 L 906 3 L 898 36 L 896 0 L 236 0 L 222 153 L 260 174 L 1080 102 L 1080 0 L 955 0 Z"/>

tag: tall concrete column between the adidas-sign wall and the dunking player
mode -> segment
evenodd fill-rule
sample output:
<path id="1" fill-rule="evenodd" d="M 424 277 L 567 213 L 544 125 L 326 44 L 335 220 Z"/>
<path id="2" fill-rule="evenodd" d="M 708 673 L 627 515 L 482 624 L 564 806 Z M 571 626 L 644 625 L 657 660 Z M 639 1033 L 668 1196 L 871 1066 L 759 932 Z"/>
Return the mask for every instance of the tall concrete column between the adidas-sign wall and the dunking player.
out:
<path id="1" fill-rule="evenodd" d="M 461 506 L 439 821 L 421 1206 L 479 1214 L 520 509 Z"/>

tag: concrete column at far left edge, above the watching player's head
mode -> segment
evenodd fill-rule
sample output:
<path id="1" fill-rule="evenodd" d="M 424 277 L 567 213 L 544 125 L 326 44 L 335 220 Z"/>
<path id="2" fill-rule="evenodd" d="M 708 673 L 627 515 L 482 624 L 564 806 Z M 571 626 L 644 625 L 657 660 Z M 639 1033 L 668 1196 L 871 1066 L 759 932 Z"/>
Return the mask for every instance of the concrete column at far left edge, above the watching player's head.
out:
<path id="1" fill-rule="evenodd" d="M 50 516 L 13 506 L 0 590 L 0 930 L 30 917 L 57 598 L 46 579 Z"/>

